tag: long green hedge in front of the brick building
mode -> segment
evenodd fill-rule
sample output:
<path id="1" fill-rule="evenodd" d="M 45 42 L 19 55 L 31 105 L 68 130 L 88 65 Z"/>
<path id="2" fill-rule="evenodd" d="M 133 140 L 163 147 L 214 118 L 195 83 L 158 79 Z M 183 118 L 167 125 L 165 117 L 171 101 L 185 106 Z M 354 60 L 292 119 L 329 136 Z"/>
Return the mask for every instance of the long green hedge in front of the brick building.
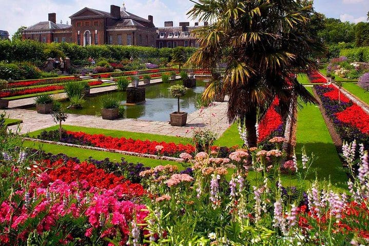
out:
<path id="1" fill-rule="evenodd" d="M 45 61 L 48 57 L 68 56 L 72 62 L 86 60 L 88 57 L 94 59 L 112 59 L 120 61 L 122 59 L 133 58 L 169 58 L 172 55 L 170 48 L 157 49 L 142 46 L 119 46 L 119 45 L 92 45 L 79 46 L 69 43 L 45 44 L 33 40 L 9 40 L 0 41 L 0 60 L 7 62 L 14 61 Z M 196 48 L 185 48 L 189 57 Z"/>

